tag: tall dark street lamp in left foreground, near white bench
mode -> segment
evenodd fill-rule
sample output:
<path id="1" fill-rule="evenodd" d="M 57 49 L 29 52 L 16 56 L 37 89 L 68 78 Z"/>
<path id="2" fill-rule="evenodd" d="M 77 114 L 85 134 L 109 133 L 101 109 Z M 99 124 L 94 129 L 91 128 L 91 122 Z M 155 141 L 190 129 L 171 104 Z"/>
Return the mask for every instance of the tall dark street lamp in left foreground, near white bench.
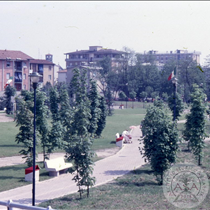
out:
<path id="1" fill-rule="evenodd" d="M 33 141 L 33 190 L 32 190 L 32 205 L 35 206 L 35 165 L 36 165 L 36 88 L 39 82 L 40 74 L 33 72 L 29 75 L 34 88 L 34 141 Z"/>

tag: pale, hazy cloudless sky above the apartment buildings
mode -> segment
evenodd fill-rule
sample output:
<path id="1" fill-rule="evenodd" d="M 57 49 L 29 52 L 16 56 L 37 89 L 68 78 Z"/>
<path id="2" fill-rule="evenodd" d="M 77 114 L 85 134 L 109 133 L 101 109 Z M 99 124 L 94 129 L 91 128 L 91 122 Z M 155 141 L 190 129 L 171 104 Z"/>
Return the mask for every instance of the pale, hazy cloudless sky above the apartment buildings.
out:
<path id="1" fill-rule="evenodd" d="M 0 49 L 35 59 L 89 46 L 210 54 L 210 1 L 1 1 Z"/>

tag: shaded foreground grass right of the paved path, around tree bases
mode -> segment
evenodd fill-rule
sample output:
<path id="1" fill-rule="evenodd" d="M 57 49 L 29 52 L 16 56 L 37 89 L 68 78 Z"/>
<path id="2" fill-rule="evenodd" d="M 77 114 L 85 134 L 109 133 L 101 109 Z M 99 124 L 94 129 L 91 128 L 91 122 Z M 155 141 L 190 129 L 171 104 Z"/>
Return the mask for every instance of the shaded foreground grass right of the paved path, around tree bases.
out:
<path id="1" fill-rule="evenodd" d="M 188 152 L 187 144 L 180 145 L 181 151 L 178 152 L 178 162 L 190 161 L 197 164 L 192 153 Z M 210 142 L 206 143 L 204 149 L 204 159 L 202 169 L 210 179 Z M 194 210 L 210 209 L 210 192 L 206 199 Z M 163 194 L 162 186 L 158 185 L 156 177 L 149 164 L 146 164 L 129 174 L 117 178 L 108 184 L 91 188 L 90 197 L 83 195 L 79 199 L 79 194 L 70 194 L 61 198 L 49 200 L 40 204 L 42 207 L 51 206 L 55 209 L 161 209 L 178 210 L 170 204 Z"/>

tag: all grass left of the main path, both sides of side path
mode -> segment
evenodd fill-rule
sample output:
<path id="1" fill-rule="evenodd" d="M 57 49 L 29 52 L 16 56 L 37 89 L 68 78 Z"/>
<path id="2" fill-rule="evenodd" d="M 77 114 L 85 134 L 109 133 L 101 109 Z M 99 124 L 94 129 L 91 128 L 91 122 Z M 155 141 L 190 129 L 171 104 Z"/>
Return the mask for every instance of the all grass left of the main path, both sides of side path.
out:
<path id="1" fill-rule="evenodd" d="M 93 149 L 106 149 L 116 147 L 115 134 L 122 133 L 123 130 L 129 129 L 131 125 L 139 125 L 144 117 L 144 110 L 141 109 L 124 109 L 115 110 L 115 114 L 107 117 L 107 126 L 102 133 L 102 138 L 94 141 Z M 0 123 L 0 157 L 18 155 L 23 148 L 15 142 L 15 136 L 18 133 L 18 127 L 15 122 Z M 41 148 L 38 152 L 41 152 Z M 94 161 L 100 158 L 94 158 Z M 42 164 L 41 164 L 42 166 Z M 5 191 L 29 184 L 24 181 L 26 164 L 0 167 L 0 191 Z M 40 180 L 49 179 L 45 169 L 40 170 Z"/>

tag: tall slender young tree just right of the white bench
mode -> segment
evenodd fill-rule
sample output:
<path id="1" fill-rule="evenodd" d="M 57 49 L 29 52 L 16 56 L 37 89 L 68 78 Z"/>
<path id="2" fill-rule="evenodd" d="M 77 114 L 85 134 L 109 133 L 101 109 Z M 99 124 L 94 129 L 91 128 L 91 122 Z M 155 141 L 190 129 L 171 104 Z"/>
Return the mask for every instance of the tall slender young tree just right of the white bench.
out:
<path id="1" fill-rule="evenodd" d="M 89 187 L 94 185 L 95 178 L 91 177 L 93 168 L 91 152 L 93 139 L 90 137 L 88 129 L 90 127 L 90 101 L 87 98 L 87 79 L 86 71 L 74 69 L 74 75 L 70 84 L 73 104 L 72 124 L 67 126 L 65 135 L 66 153 L 69 161 L 74 162 L 75 176 L 73 180 L 79 187 L 80 198 L 82 196 L 82 186 Z"/>

